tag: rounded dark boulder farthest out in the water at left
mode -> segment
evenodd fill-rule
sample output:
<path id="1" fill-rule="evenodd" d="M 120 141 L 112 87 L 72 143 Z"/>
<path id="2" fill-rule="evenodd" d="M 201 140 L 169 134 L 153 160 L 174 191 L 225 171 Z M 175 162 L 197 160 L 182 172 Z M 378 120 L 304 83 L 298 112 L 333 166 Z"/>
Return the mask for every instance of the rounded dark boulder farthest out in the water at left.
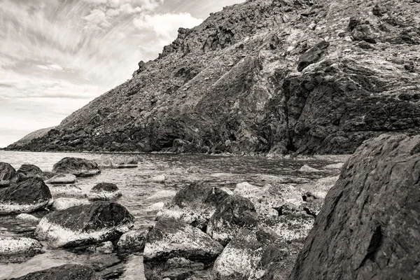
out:
<path id="1" fill-rule="evenodd" d="M 63 158 L 52 167 L 52 172 L 90 177 L 101 173 L 96 162 L 83 158 Z"/>

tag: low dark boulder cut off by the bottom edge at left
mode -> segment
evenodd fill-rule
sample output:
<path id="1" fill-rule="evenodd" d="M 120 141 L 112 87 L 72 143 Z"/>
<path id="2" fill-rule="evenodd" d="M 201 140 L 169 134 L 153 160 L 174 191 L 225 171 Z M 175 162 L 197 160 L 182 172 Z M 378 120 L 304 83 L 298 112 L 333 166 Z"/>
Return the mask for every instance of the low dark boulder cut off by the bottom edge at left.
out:
<path id="1" fill-rule="evenodd" d="M 49 269 L 31 272 L 15 280 L 99 280 L 99 275 L 85 265 L 61 265 Z"/>

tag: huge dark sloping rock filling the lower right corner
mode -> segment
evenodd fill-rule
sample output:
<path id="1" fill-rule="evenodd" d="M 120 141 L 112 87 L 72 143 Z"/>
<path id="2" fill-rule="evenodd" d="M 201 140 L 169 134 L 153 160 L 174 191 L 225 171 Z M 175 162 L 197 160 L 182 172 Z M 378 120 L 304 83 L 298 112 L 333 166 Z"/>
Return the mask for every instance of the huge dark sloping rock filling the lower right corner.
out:
<path id="1" fill-rule="evenodd" d="M 381 135 L 342 168 L 290 279 L 419 279 L 420 137 Z"/>

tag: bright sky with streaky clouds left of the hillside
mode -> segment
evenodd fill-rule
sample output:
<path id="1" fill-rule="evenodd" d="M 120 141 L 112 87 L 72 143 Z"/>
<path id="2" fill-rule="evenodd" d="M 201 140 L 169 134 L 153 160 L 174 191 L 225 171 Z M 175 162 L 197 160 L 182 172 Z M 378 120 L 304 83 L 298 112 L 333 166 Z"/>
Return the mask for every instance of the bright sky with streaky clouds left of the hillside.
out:
<path id="1" fill-rule="evenodd" d="M 0 148 L 155 59 L 179 27 L 244 0 L 0 0 Z"/>

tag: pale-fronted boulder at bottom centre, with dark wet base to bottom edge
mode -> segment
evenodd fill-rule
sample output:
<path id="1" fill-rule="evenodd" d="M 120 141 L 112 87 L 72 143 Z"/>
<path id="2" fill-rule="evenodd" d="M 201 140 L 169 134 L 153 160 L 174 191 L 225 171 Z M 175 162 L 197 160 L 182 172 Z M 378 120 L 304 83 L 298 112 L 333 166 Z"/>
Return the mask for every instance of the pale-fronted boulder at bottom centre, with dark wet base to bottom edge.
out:
<path id="1" fill-rule="evenodd" d="M 160 220 L 146 239 L 146 279 L 185 279 L 210 265 L 222 251 L 223 246 L 201 230 L 175 220 Z"/>

